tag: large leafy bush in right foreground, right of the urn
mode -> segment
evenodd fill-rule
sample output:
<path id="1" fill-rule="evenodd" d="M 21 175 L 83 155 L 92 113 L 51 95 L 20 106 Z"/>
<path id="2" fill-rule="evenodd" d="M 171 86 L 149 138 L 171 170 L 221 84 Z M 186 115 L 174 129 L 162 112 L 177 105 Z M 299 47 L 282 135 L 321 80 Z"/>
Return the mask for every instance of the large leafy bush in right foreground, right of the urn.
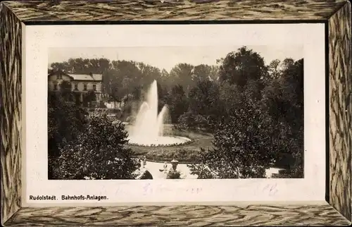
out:
<path id="1" fill-rule="evenodd" d="M 214 148 L 202 152 L 201 163 L 191 165 L 199 178 L 265 178 L 275 157 L 270 117 L 256 101 L 243 98 L 240 109 L 223 118 L 214 133 Z"/>

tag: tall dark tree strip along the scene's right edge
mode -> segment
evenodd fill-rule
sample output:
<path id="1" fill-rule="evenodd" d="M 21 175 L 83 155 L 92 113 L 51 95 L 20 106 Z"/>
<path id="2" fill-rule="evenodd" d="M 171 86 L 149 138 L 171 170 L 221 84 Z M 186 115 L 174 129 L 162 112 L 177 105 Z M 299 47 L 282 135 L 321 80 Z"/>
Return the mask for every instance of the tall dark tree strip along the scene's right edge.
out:
<path id="1" fill-rule="evenodd" d="M 284 59 L 276 78 L 263 90 L 263 108 L 275 122 L 280 141 L 277 166 L 289 168 L 282 177 L 303 176 L 303 59 Z M 284 166 L 285 165 L 285 166 Z"/>

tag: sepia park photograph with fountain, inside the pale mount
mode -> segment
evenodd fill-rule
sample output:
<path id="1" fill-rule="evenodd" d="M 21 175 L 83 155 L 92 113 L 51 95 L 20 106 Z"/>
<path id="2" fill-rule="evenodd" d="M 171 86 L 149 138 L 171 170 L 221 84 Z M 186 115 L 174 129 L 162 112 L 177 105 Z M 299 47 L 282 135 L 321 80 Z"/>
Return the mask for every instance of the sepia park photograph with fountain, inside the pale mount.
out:
<path id="1" fill-rule="evenodd" d="M 303 178 L 303 47 L 49 48 L 48 179 Z"/>

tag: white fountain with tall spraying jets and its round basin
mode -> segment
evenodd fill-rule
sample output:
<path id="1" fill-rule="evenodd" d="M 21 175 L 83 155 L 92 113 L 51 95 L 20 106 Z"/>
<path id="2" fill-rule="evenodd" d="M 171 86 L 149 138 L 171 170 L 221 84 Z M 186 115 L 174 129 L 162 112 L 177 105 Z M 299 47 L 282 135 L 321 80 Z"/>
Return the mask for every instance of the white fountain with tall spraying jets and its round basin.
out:
<path id="1" fill-rule="evenodd" d="M 146 95 L 146 102 L 139 107 L 136 120 L 129 130 L 129 143 L 139 146 L 171 146 L 190 142 L 187 137 L 164 135 L 164 120 L 168 107 L 158 113 L 158 87 L 153 81 Z"/>

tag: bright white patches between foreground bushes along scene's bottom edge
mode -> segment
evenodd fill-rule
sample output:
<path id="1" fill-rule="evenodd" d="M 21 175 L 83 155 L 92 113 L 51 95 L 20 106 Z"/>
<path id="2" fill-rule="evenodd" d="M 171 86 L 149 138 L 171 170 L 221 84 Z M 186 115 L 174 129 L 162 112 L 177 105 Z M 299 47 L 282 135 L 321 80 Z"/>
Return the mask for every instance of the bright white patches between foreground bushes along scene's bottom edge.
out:
<path id="1" fill-rule="evenodd" d="M 166 173 L 165 171 L 160 171 L 163 169 L 164 164 L 161 162 L 154 162 L 154 161 L 146 161 L 146 165 L 144 168 L 148 170 L 151 175 L 153 176 L 153 179 L 166 179 Z M 167 169 L 171 168 L 171 164 L 168 163 Z M 273 173 L 279 173 L 279 170 L 281 168 L 268 168 L 266 170 L 266 177 L 270 178 Z M 181 172 L 181 177 L 184 179 L 196 179 L 198 176 L 192 175 L 189 171 L 189 168 L 187 167 L 187 164 L 178 164 L 177 165 L 177 170 Z"/>

